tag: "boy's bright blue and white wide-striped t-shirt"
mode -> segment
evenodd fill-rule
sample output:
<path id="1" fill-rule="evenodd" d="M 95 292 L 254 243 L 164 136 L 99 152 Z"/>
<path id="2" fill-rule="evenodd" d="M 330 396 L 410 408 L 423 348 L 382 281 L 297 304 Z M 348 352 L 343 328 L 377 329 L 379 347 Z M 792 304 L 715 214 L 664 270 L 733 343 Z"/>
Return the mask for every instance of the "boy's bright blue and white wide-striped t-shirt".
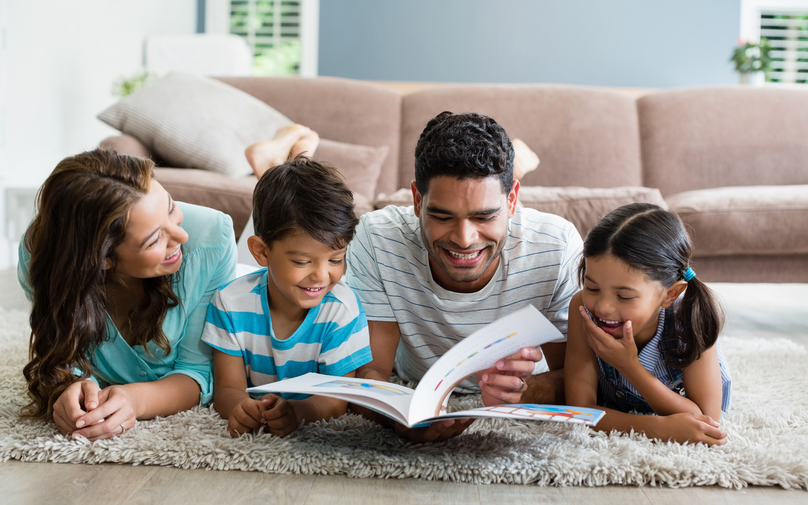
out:
<path id="1" fill-rule="evenodd" d="M 342 376 L 372 360 L 364 309 L 343 281 L 309 309 L 288 339 L 276 339 L 267 305 L 266 268 L 239 277 L 213 295 L 202 340 L 230 356 L 242 356 L 249 387 L 308 372 Z"/>

